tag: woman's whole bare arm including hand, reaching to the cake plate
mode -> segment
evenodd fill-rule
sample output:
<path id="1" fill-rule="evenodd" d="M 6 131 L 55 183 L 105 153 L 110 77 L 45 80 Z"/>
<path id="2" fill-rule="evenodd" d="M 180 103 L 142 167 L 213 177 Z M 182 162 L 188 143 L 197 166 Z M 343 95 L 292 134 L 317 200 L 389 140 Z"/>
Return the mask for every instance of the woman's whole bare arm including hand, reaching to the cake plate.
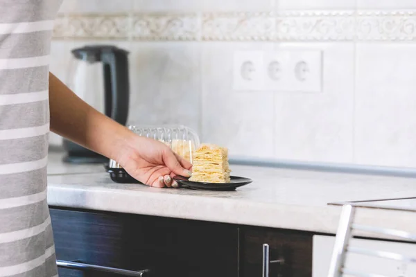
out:
<path id="1" fill-rule="evenodd" d="M 191 175 L 191 163 L 175 155 L 167 145 L 137 136 L 96 111 L 53 74 L 49 75 L 49 105 L 51 131 L 118 161 L 144 184 L 177 186 L 173 176 Z"/>

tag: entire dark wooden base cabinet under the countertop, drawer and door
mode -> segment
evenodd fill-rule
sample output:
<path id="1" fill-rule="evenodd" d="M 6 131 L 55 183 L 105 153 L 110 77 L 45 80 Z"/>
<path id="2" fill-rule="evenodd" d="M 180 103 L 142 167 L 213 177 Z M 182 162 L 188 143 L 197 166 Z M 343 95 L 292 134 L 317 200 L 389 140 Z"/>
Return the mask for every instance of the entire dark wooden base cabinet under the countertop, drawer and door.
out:
<path id="1" fill-rule="evenodd" d="M 149 269 L 152 277 L 261 277 L 266 243 L 269 276 L 312 276 L 312 233 L 58 207 L 51 207 L 51 219 L 58 260 Z M 120 277 L 59 271 L 60 277 Z"/>

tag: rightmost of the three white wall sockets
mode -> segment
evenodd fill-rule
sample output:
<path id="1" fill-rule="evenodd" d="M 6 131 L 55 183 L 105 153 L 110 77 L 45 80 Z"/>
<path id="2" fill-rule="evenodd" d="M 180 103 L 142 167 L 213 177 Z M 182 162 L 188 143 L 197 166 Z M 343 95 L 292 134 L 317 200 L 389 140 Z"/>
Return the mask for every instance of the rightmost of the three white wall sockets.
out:
<path id="1" fill-rule="evenodd" d="M 285 64 L 288 91 L 320 92 L 322 90 L 322 52 L 316 50 L 291 51 Z"/>

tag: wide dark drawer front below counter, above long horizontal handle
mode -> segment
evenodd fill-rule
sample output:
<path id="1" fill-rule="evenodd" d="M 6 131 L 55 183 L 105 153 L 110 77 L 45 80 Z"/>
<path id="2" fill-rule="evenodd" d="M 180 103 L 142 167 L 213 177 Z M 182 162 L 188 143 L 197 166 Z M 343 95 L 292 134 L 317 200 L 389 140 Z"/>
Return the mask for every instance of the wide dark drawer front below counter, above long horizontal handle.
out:
<path id="1" fill-rule="evenodd" d="M 236 226 L 56 208 L 51 218 L 58 260 L 149 269 L 151 276 L 238 276 Z"/>

